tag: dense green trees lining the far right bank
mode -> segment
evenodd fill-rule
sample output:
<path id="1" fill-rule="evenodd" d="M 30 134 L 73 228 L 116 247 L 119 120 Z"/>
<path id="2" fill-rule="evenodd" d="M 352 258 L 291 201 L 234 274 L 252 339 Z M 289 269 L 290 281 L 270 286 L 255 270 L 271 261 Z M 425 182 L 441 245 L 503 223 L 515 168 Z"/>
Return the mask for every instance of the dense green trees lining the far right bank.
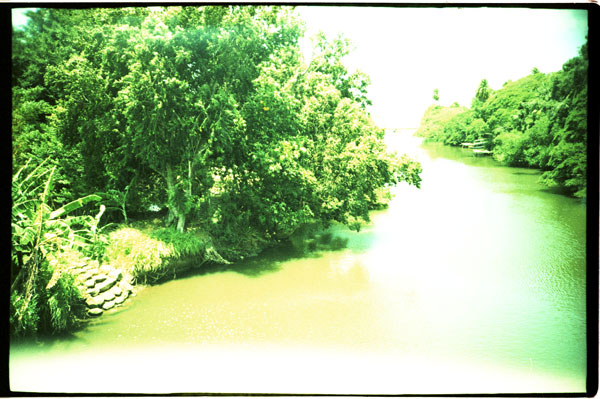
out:
<path id="1" fill-rule="evenodd" d="M 417 134 L 450 145 L 487 139 L 508 165 L 542 169 L 542 181 L 586 196 L 587 44 L 561 71 L 536 68 L 492 91 L 483 80 L 470 109 L 429 107 Z"/>

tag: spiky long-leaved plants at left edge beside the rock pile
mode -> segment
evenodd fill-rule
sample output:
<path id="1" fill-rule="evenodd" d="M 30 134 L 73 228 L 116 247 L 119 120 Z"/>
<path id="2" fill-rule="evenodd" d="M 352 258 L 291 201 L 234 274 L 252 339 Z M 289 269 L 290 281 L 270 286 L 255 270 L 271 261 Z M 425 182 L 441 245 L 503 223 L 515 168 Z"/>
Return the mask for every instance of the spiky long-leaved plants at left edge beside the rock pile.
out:
<path id="1" fill-rule="evenodd" d="M 56 167 L 43 166 L 26 164 L 12 180 L 10 326 L 17 334 L 73 327 L 84 308 L 68 263 L 102 250 L 103 206 L 96 217 L 69 215 L 100 197 L 89 195 L 52 210 Z"/>

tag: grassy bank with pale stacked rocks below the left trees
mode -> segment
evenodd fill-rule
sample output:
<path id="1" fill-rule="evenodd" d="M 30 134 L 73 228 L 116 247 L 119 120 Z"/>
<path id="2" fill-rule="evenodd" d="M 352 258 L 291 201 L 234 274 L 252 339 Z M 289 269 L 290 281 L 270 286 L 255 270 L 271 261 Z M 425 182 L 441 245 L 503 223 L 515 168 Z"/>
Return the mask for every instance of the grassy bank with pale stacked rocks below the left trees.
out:
<path id="1" fill-rule="evenodd" d="M 100 316 L 117 308 L 149 284 L 176 278 L 207 262 L 230 264 L 199 229 L 180 233 L 149 219 L 116 227 L 107 235 L 102 261 L 84 258 L 64 270 L 87 307 L 87 315 Z"/>

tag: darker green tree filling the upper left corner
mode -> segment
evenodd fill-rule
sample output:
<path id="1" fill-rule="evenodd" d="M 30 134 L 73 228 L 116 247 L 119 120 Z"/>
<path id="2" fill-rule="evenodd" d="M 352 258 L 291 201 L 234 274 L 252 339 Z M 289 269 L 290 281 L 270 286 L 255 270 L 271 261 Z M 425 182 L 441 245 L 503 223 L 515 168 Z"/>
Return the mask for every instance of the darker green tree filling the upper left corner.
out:
<path id="1" fill-rule="evenodd" d="M 57 166 L 57 201 L 121 190 L 131 181 L 137 166 L 123 147 L 123 120 L 114 108 L 124 75 L 123 57 L 114 54 L 124 43 L 111 40 L 117 26 L 139 26 L 147 13 L 146 8 L 40 8 L 15 31 L 14 166 L 32 156 L 36 163 L 49 158 Z"/>

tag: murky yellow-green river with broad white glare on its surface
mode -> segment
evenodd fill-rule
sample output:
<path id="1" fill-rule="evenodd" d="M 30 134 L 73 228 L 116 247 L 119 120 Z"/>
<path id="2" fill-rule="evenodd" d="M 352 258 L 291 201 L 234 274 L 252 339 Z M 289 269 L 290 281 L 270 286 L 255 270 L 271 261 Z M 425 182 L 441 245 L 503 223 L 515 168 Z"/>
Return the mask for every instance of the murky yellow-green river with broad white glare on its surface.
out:
<path id="1" fill-rule="evenodd" d="M 422 163 L 422 187 L 398 186 L 360 233 L 332 228 L 345 249 L 146 288 L 72 337 L 14 344 L 11 389 L 584 392 L 585 204 L 534 170 L 386 140 Z"/>

